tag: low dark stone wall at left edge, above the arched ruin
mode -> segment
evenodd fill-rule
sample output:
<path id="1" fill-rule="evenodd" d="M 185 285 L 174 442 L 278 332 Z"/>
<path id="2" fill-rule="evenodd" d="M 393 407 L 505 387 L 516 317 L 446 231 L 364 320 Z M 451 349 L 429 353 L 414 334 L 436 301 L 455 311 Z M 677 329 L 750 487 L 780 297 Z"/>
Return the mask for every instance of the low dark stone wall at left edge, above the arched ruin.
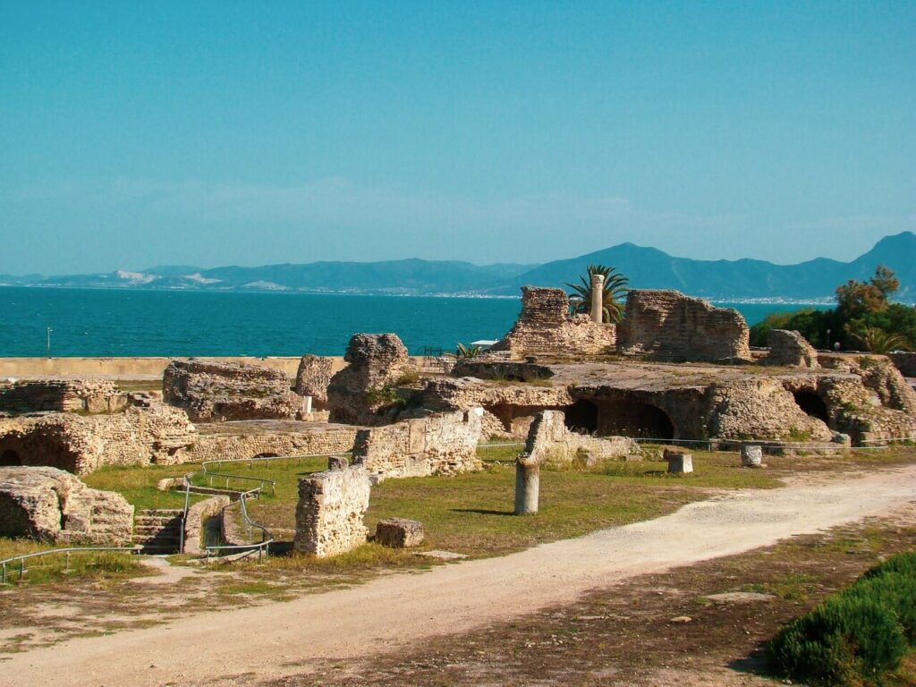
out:
<path id="1" fill-rule="evenodd" d="M 29 379 L 0 383 L 0 411 L 116 412 L 127 398 L 117 385 L 104 379 Z"/>

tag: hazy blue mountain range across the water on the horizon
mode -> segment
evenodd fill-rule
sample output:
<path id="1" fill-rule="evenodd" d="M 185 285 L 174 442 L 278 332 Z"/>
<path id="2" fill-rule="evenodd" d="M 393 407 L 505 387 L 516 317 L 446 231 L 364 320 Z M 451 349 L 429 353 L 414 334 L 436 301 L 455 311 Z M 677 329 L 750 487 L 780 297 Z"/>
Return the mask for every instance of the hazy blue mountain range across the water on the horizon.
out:
<path id="1" fill-rule="evenodd" d="M 292 291 L 405 295 L 516 296 L 524 285 L 562 287 L 589 265 L 608 265 L 638 289 L 678 289 L 713 300 L 829 300 L 848 279 L 867 280 L 878 265 L 900 279 L 897 297 L 916 300 L 916 234 L 885 236 L 851 262 L 824 257 L 795 265 L 765 260 L 694 260 L 630 243 L 543 265 L 477 266 L 445 260 L 313 262 L 264 267 L 150 267 L 45 277 L 0 275 L 0 285 L 63 288 Z"/>

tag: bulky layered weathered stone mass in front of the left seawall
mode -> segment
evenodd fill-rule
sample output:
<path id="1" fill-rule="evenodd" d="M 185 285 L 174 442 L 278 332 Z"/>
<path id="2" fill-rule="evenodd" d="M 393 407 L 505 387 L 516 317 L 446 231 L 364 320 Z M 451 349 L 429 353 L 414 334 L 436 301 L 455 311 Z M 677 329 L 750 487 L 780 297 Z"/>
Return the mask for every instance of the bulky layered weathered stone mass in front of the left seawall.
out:
<path id="1" fill-rule="evenodd" d="M 295 419 L 302 398 L 278 370 L 245 363 L 173 360 L 162 377 L 163 398 L 198 422 Z"/>

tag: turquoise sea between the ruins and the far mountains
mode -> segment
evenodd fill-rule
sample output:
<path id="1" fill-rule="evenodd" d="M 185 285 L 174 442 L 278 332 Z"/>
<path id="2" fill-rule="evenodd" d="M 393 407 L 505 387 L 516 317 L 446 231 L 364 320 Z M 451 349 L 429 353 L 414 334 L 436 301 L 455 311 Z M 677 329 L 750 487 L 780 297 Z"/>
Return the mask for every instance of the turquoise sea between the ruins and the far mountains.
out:
<path id="1" fill-rule="evenodd" d="M 354 333 L 397 333 L 410 354 L 497 340 L 521 300 L 0 287 L 0 357 L 343 355 Z M 716 303 L 750 325 L 790 303 Z"/>

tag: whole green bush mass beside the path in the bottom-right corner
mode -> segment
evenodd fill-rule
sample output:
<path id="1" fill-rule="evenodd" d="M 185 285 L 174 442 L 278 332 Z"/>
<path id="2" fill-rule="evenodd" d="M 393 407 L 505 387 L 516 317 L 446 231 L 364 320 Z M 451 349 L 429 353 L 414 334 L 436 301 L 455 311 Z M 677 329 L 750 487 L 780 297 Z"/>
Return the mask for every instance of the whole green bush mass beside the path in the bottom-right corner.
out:
<path id="1" fill-rule="evenodd" d="M 916 646 L 916 552 L 872 568 L 782 627 L 768 645 L 780 673 L 812 684 L 881 682 Z"/>

